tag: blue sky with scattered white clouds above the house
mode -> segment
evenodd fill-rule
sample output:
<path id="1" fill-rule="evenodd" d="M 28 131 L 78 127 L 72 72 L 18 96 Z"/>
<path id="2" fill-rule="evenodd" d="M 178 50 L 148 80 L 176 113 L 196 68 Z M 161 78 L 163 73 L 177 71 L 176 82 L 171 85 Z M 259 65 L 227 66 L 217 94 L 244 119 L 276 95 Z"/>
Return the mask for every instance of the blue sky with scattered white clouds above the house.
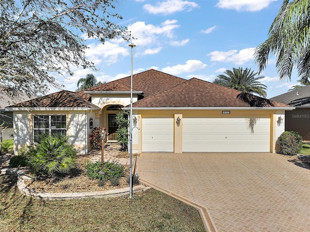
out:
<path id="1" fill-rule="evenodd" d="M 85 38 L 87 58 L 97 72 L 75 68 L 73 77 L 60 78 L 66 90 L 75 91 L 79 78 L 93 75 L 99 81 L 130 76 L 133 42 L 133 74 L 156 69 L 177 77 L 200 78 L 212 82 L 217 75 L 233 68 L 258 67 L 254 49 L 268 37 L 268 30 L 279 12 L 282 0 L 118 0 L 114 12 L 123 16 L 135 40 L 121 38 L 105 44 Z M 260 75 L 267 86 L 267 98 L 286 93 L 297 85 L 279 80 L 275 57 Z M 52 89 L 51 93 L 57 90 Z"/>

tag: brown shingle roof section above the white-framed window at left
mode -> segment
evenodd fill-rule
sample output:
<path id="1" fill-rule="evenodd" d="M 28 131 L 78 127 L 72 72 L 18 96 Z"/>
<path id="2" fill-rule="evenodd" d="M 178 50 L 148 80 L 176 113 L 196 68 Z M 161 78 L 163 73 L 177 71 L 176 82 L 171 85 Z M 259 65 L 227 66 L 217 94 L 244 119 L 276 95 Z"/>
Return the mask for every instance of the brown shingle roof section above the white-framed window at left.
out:
<path id="1" fill-rule="evenodd" d="M 65 91 L 65 90 L 9 106 L 9 108 L 21 108 L 21 107 L 27 107 L 27 108 L 31 108 L 31 107 L 98 108 L 91 102 L 82 98 L 77 93 L 74 93 L 71 91 Z"/>

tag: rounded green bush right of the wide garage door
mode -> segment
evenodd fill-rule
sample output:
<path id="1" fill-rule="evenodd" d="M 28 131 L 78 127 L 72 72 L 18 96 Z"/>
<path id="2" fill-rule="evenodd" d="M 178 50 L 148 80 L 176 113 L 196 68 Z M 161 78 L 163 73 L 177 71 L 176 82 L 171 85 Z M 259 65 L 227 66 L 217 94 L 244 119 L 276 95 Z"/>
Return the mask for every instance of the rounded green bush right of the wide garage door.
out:
<path id="1" fill-rule="evenodd" d="M 278 141 L 281 154 L 295 155 L 300 152 L 303 139 L 297 132 L 285 131 L 280 135 Z"/>

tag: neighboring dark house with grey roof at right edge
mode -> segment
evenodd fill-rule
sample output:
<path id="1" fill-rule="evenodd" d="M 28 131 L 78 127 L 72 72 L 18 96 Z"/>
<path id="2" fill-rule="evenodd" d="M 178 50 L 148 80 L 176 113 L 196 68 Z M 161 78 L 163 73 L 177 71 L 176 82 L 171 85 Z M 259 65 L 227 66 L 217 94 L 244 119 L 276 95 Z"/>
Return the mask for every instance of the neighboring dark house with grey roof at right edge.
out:
<path id="1" fill-rule="evenodd" d="M 270 100 L 295 107 L 293 111 L 285 111 L 285 130 L 296 131 L 304 140 L 310 140 L 310 85 L 283 93 Z"/>

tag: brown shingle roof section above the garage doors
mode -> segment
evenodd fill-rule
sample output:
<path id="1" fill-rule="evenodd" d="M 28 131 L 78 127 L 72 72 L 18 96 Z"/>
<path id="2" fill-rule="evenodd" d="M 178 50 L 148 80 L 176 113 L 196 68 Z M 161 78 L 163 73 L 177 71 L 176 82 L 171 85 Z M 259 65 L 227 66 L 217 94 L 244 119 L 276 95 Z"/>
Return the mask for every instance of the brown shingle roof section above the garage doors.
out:
<path id="1" fill-rule="evenodd" d="M 158 107 L 289 107 L 241 91 L 191 78 L 164 92 L 141 99 L 137 108 Z"/>

